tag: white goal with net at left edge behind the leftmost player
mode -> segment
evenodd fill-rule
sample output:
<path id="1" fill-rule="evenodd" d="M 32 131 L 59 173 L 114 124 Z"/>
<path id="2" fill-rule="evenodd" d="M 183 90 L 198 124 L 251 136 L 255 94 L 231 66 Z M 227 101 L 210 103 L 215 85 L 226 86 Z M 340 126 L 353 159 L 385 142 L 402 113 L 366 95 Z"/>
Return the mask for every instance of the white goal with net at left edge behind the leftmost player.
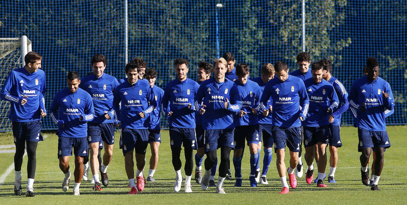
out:
<path id="1" fill-rule="evenodd" d="M 0 38 L 0 87 L 10 71 L 24 66 L 24 56 L 31 51 L 31 41 L 26 37 Z M 10 103 L 0 100 L 0 145 L 13 143 L 13 132 L 9 120 Z"/>

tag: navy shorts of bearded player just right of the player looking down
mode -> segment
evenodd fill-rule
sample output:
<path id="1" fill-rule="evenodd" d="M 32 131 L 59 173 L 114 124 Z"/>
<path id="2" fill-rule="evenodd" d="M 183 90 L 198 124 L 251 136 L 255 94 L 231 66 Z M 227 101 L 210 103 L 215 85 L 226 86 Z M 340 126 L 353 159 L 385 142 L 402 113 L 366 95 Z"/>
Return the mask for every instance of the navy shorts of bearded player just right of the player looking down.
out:
<path id="1" fill-rule="evenodd" d="M 316 127 L 303 126 L 302 128 L 304 129 L 304 147 L 314 146 L 318 142 L 328 144 L 328 124 Z"/>

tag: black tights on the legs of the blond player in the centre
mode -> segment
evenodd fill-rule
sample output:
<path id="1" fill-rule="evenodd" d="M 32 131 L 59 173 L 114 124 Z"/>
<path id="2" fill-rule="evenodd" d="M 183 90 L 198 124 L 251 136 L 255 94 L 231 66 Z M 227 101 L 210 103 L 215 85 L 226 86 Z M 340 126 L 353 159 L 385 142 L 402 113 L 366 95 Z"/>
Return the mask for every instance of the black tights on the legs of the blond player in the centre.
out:
<path id="1" fill-rule="evenodd" d="M 222 146 L 221 147 L 221 163 L 219 164 L 219 177 L 226 177 L 228 173 L 228 168 L 230 165 L 230 151 L 232 151 L 231 147 Z M 215 164 L 215 160 L 217 157 L 217 150 L 210 150 L 206 152 L 206 159 L 205 159 L 205 170 L 210 170 L 212 166 Z"/>

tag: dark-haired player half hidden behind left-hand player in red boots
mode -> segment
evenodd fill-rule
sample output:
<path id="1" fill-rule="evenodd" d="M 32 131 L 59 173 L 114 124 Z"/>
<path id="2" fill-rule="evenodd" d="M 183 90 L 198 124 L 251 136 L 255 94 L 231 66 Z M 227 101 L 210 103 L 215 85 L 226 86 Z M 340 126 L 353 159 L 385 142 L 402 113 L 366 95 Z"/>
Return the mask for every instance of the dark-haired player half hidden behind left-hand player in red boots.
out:
<path id="1" fill-rule="evenodd" d="M 155 102 L 157 107 L 151 112 L 150 125 L 149 125 L 149 144 L 151 148 L 150 168 L 147 181 L 155 181 L 154 172 L 158 164 L 158 148 L 161 143 L 161 127 L 160 127 L 160 112 L 161 112 L 161 99 L 164 96 L 164 90 L 155 85 L 158 73 L 154 68 L 147 68 L 144 77 L 149 81 L 150 87 L 153 90 Z"/>

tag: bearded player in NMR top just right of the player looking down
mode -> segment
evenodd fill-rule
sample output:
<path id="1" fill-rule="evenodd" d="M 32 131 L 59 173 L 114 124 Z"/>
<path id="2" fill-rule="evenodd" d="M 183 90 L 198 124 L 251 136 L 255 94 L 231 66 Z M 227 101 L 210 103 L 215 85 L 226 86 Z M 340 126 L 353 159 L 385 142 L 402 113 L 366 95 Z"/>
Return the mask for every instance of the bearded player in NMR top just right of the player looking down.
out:
<path id="1" fill-rule="evenodd" d="M 304 129 L 304 158 L 307 164 L 306 183 L 312 183 L 314 176 L 313 155 L 315 144 L 318 146 L 318 177 L 317 187 L 326 187 L 323 183 L 326 169 L 326 145 L 328 144 L 329 116 L 338 107 L 338 96 L 332 84 L 324 80 L 324 66 L 322 62 L 314 62 L 311 67 L 312 78 L 304 81 L 309 96 L 309 110 L 307 118 L 302 121 Z"/>

